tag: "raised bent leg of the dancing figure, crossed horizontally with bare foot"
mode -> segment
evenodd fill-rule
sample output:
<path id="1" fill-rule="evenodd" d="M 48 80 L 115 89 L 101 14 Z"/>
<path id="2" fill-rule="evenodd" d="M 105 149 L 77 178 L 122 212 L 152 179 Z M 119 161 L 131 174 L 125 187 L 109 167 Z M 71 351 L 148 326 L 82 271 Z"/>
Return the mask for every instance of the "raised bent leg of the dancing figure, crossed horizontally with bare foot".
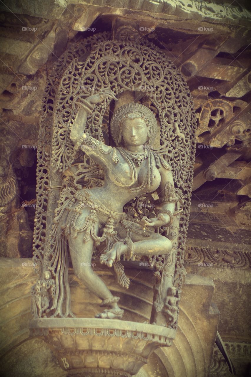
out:
<path id="1" fill-rule="evenodd" d="M 156 234 L 156 236 L 155 236 Z M 171 251 L 172 243 L 171 241 L 161 236 L 158 233 L 154 233 L 154 239 L 144 239 L 143 241 L 133 242 L 134 254 L 137 255 L 158 255 L 167 254 Z M 132 240 L 134 241 L 134 240 Z M 112 267 L 113 262 L 116 260 L 117 248 L 119 242 L 113 245 L 111 250 L 107 251 L 106 254 L 102 254 L 100 257 L 100 262 L 107 264 L 108 267 Z M 120 254 L 126 254 L 128 250 L 127 245 L 120 245 Z"/>

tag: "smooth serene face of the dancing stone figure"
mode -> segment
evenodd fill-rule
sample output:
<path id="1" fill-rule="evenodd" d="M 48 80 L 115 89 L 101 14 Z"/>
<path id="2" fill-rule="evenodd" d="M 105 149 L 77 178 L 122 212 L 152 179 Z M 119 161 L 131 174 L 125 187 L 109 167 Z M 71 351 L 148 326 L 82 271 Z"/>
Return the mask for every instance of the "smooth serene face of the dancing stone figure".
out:
<path id="1" fill-rule="evenodd" d="M 148 128 L 141 118 L 125 119 L 122 124 L 122 138 L 126 146 L 144 145 L 149 136 Z"/>

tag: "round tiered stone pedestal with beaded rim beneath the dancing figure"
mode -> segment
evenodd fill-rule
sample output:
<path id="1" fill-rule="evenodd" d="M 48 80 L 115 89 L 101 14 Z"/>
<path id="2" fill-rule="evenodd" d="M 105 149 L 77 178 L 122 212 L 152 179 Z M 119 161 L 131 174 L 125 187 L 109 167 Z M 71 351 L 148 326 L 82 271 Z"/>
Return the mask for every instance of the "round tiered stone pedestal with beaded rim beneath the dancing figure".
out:
<path id="1" fill-rule="evenodd" d="M 67 377 L 135 375 L 159 347 L 170 346 L 176 331 L 163 326 L 90 318 L 36 319 L 31 336 L 55 351 Z"/>

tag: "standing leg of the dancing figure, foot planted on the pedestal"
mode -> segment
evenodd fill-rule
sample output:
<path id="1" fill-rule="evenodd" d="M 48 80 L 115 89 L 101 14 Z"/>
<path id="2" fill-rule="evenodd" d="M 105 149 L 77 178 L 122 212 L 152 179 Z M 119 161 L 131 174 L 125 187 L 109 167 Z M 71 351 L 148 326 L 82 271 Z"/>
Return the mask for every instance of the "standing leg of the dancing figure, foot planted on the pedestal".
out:
<path id="1" fill-rule="evenodd" d="M 123 311 L 114 302 L 114 297 L 106 287 L 104 281 L 93 271 L 91 267 L 94 242 L 92 239 L 83 242 L 84 233 L 78 233 L 77 238 L 69 236 L 68 244 L 75 275 L 82 280 L 83 284 L 102 300 L 107 300 L 107 305 L 114 312 L 105 311 L 99 313 L 98 318 L 121 318 Z M 109 302 L 113 301 L 113 302 Z M 118 313 L 116 313 L 118 312 Z"/>

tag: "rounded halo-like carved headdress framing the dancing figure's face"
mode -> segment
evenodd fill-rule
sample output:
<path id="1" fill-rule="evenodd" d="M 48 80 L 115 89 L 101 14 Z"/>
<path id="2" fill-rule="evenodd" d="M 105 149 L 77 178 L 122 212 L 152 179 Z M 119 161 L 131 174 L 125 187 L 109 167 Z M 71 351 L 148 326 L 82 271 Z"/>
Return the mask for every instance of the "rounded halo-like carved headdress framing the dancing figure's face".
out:
<path id="1" fill-rule="evenodd" d="M 112 116 L 110 123 L 112 138 L 119 146 L 121 143 L 122 123 L 128 118 L 129 114 L 135 113 L 136 117 L 144 119 L 147 126 L 150 127 L 149 144 L 153 144 L 157 133 L 157 121 L 153 112 L 148 107 L 140 103 L 127 103 L 120 106 Z"/>

